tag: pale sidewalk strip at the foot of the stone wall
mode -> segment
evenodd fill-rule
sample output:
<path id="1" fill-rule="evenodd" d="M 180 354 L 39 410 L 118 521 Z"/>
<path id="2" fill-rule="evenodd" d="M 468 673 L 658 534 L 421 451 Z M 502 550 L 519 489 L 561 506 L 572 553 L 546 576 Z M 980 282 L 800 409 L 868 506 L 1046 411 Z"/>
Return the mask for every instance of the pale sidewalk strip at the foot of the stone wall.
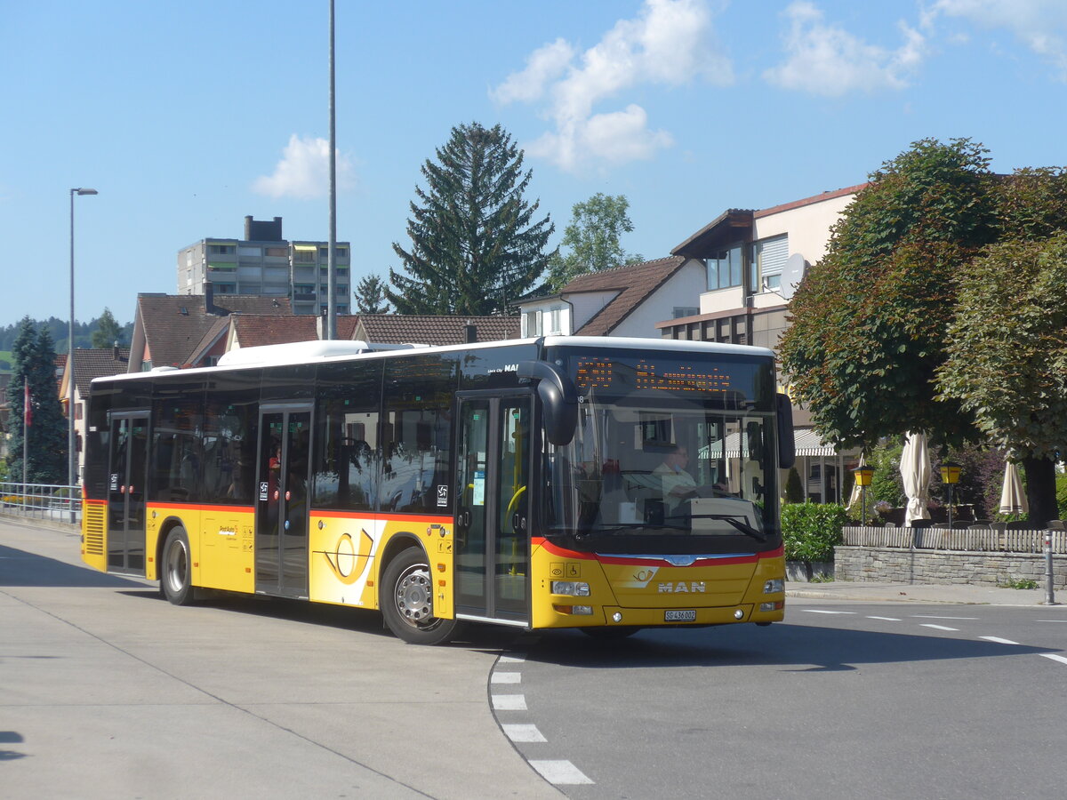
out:
<path id="1" fill-rule="evenodd" d="M 956 603 L 987 606 L 1046 606 L 1046 589 L 1000 589 L 989 586 L 921 583 L 875 583 L 872 581 L 834 580 L 829 583 L 785 581 L 786 598 L 847 599 L 913 603 Z M 1055 608 L 1067 609 L 1067 591 L 1055 593 Z M 1048 607 L 1048 606 L 1046 606 Z M 1051 607 L 1049 607 L 1051 608 Z M 1065 611 L 1067 613 L 1067 611 Z"/>

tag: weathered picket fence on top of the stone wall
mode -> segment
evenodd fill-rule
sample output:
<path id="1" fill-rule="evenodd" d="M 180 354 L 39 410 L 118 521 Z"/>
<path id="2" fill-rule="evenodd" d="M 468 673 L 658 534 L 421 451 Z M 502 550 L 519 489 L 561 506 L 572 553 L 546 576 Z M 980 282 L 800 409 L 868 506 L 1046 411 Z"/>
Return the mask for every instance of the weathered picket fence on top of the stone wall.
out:
<path id="1" fill-rule="evenodd" d="M 1018 528 L 879 528 L 848 527 L 842 544 L 849 547 L 899 547 L 924 550 L 971 550 L 988 553 L 1045 553 L 1051 534 L 1052 553 L 1067 555 L 1067 530 L 1024 530 Z"/>

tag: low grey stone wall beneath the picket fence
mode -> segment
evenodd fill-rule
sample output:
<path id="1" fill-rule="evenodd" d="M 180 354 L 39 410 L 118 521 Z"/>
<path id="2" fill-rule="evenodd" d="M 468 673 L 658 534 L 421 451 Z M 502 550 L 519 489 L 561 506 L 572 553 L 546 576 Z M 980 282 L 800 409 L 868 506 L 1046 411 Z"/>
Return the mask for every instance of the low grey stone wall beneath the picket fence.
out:
<path id="1" fill-rule="evenodd" d="M 1018 580 L 1048 583 L 1044 554 L 970 550 L 909 550 L 898 547 L 846 547 L 833 551 L 837 580 L 881 583 L 970 583 L 1001 586 Z M 1052 557 L 1052 582 L 1067 589 L 1067 556 Z"/>

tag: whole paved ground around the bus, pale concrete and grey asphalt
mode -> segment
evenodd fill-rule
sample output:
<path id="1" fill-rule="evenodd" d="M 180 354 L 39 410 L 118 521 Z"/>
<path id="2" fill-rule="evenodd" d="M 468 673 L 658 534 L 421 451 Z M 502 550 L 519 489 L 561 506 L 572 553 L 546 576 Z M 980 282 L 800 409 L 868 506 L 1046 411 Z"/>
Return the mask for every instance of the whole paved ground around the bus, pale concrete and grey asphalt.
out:
<path id="1" fill-rule="evenodd" d="M 477 629 L 176 608 L 0 521 L 0 797 L 1063 796 L 1067 612 L 792 599 L 784 624 Z"/>

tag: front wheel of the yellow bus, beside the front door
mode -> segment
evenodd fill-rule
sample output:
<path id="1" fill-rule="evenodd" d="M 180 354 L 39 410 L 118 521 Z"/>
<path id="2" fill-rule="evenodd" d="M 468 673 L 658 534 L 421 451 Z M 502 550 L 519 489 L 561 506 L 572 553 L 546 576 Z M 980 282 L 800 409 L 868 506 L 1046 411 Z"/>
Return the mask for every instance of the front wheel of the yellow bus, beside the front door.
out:
<path id="1" fill-rule="evenodd" d="M 382 576 L 382 615 L 397 638 L 411 644 L 443 644 L 451 639 L 456 620 L 433 615 L 433 579 L 426 556 L 409 547 L 389 561 Z"/>

